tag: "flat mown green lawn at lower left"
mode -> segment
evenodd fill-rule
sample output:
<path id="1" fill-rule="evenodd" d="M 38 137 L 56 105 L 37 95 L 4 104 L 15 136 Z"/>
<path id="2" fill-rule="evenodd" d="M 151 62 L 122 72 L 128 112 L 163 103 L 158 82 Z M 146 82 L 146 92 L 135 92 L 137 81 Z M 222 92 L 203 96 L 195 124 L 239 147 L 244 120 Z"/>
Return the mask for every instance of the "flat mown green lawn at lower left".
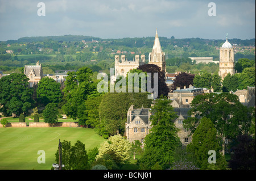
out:
<path id="1" fill-rule="evenodd" d="M 104 142 L 90 128 L 0 128 L 0 170 L 51 169 L 59 139 L 71 145 L 79 140 L 86 150 Z M 45 151 L 46 163 L 38 163 L 39 150 Z"/>

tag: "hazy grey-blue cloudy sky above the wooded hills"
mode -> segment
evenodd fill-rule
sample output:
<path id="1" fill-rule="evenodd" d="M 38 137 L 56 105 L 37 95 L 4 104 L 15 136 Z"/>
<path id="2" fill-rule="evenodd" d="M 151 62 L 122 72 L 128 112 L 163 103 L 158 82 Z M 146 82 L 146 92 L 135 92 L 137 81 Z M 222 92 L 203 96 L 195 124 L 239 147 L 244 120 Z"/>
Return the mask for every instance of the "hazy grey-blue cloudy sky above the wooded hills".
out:
<path id="1" fill-rule="evenodd" d="M 39 2 L 45 16 L 39 16 Z M 167 38 L 225 40 L 228 33 L 229 39 L 253 39 L 255 1 L 0 0 L 0 41 L 59 35 L 147 37 L 155 36 L 156 28 L 158 36 Z"/>

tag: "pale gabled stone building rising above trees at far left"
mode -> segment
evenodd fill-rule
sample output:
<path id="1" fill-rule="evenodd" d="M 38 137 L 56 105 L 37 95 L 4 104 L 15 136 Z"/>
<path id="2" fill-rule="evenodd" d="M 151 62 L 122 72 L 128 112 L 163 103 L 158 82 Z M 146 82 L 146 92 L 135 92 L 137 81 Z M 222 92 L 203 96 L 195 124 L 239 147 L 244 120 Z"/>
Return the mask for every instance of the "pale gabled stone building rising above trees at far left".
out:
<path id="1" fill-rule="evenodd" d="M 39 65 L 39 61 L 36 65 L 25 65 L 24 67 L 24 74 L 30 80 L 30 87 L 33 87 L 38 84 L 38 82 L 44 77 L 43 69 L 41 64 Z"/>

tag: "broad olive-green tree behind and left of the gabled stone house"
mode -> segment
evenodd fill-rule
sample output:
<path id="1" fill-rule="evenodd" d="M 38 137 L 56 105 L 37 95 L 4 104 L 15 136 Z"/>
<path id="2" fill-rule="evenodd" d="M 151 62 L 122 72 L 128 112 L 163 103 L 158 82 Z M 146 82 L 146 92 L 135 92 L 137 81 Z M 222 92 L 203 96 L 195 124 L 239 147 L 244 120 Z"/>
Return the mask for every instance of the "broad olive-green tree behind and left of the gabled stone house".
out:
<path id="1" fill-rule="evenodd" d="M 152 99 L 146 92 L 109 92 L 104 94 L 99 106 L 100 123 L 96 126 L 100 134 L 113 135 L 125 131 L 127 111 L 133 104 L 135 108 L 150 107 Z"/>

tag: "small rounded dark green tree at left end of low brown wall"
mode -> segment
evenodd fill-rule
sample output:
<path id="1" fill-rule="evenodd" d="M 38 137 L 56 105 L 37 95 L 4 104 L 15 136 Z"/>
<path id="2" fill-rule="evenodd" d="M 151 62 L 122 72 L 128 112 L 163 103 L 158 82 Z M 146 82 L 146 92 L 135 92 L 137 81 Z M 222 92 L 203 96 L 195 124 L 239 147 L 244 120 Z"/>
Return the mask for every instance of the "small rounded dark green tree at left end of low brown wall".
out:
<path id="1" fill-rule="evenodd" d="M 43 111 L 44 122 L 49 124 L 55 124 L 58 121 L 59 111 L 57 110 L 55 103 L 47 104 Z"/>

